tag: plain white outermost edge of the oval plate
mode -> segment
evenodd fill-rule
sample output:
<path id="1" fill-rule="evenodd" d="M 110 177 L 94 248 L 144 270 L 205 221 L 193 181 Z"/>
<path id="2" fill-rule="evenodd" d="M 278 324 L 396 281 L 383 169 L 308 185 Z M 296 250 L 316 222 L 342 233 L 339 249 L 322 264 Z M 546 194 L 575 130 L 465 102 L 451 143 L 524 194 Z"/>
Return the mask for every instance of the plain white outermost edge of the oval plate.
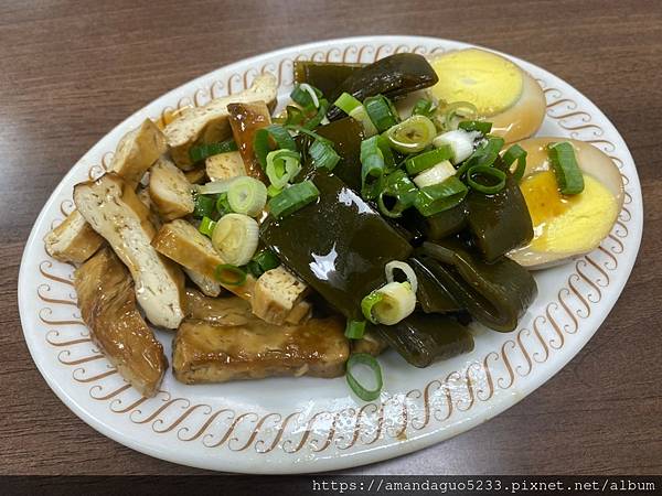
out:
<path id="1" fill-rule="evenodd" d="M 199 86 L 200 83 L 206 78 L 210 78 L 211 75 L 213 75 L 214 73 L 216 73 L 220 69 L 226 71 L 226 72 L 232 72 L 235 67 L 237 66 L 242 66 L 242 65 L 248 65 L 248 64 L 254 64 L 256 61 L 259 60 L 264 60 L 264 58 L 274 58 L 274 57 L 278 57 L 285 53 L 291 52 L 293 50 L 298 50 L 298 51 L 306 51 L 306 50 L 314 50 L 316 47 L 320 47 L 320 46 L 324 46 L 324 45 L 339 45 L 339 44 L 343 44 L 343 43 L 378 43 L 378 42 L 384 42 L 384 43 L 397 43 L 397 41 L 402 41 L 403 43 L 405 42 L 412 42 L 412 41 L 421 41 L 425 43 L 441 43 L 441 44 L 465 44 L 465 45 L 471 45 L 471 46 L 477 46 L 477 47 L 482 47 L 481 45 L 477 45 L 473 43 L 469 43 L 469 42 L 465 42 L 465 41 L 456 41 L 456 40 L 447 40 L 447 39 L 440 39 L 440 37 L 434 37 L 434 36 L 409 36 L 409 35 L 369 35 L 369 36 L 352 36 L 352 37 L 340 37 L 340 39 L 330 39 L 330 40 L 321 40 L 321 41 L 316 41 L 316 42 L 311 42 L 311 43 L 305 43 L 305 44 L 298 44 L 298 45 L 292 45 L 292 46 L 287 46 L 287 47 L 281 47 L 281 48 L 277 48 L 275 51 L 270 51 L 270 52 L 265 52 L 265 53 L 260 53 L 260 54 L 256 54 L 256 55 L 252 55 L 247 58 L 234 62 L 232 64 L 227 64 L 224 66 L 220 66 L 211 72 L 207 72 L 206 74 L 203 74 L 201 76 L 197 76 L 193 79 L 190 79 L 185 83 L 183 83 L 182 85 L 179 85 L 178 87 L 171 89 L 170 91 L 167 91 L 166 94 L 160 95 L 159 97 L 154 98 L 153 100 L 149 101 L 146 106 L 141 107 L 140 109 L 134 111 L 130 116 L 128 116 L 126 119 L 124 119 L 121 122 L 119 122 L 117 126 L 115 126 L 110 131 L 108 131 L 106 134 L 104 134 L 104 137 L 99 138 L 99 140 L 97 140 L 82 157 L 81 159 L 78 159 L 78 161 L 72 165 L 71 170 L 61 179 L 60 183 L 57 184 L 57 186 L 55 186 L 55 188 L 53 190 L 52 194 L 49 196 L 47 201 L 44 203 L 44 207 L 45 205 L 50 204 L 53 202 L 53 200 L 61 193 L 61 191 L 64 187 L 64 183 L 71 179 L 71 175 L 75 174 L 75 170 L 77 169 L 77 165 L 88 155 L 90 154 L 90 152 L 97 147 L 99 145 L 99 142 L 104 140 L 104 138 L 118 132 L 118 130 L 124 129 L 127 127 L 128 122 L 131 119 L 136 119 L 136 116 L 139 114 L 145 114 L 147 110 L 147 107 L 150 107 L 152 105 L 157 105 L 160 100 L 166 100 L 169 97 L 171 97 L 174 94 L 181 93 L 183 91 L 184 87 L 195 87 Z M 494 52 L 494 53 L 500 53 L 511 60 L 514 60 L 516 62 L 523 62 L 524 64 L 531 64 L 524 60 L 521 60 L 519 57 L 512 56 L 510 54 L 503 54 L 502 52 L 489 48 L 489 47 L 484 47 L 484 50 Z M 534 65 L 534 64 L 531 64 Z M 548 73 L 546 69 L 544 69 L 543 67 L 540 67 L 537 65 L 535 65 L 535 67 L 537 69 L 540 69 L 543 74 L 548 74 L 551 76 L 554 76 L 552 73 Z M 558 78 L 560 80 L 560 77 L 558 76 L 554 76 L 555 78 Z M 565 83 L 565 80 L 564 80 Z M 624 143 L 624 140 L 622 139 L 620 132 L 618 131 L 618 129 L 616 128 L 616 126 L 613 126 L 613 123 L 609 120 L 609 118 L 607 116 L 604 115 L 604 112 L 599 109 L 599 107 L 597 107 L 589 98 L 587 98 L 581 91 L 577 90 L 573 85 L 569 85 L 568 83 L 566 83 L 568 86 L 570 86 L 579 96 L 581 96 L 583 98 L 585 98 L 588 103 L 590 103 L 596 109 L 598 109 L 600 111 L 600 116 L 601 118 L 604 118 L 606 120 L 606 122 L 609 123 L 609 126 L 611 126 L 611 128 L 616 131 L 618 138 L 621 141 L 621 145 L 619 147 L 619 150 L 624 153 L 624 158 L 629 159 L 629 161 L 634 165 L 634 174 L 629 177 L 630 182 L 633 183 L 633 186 L 636 187 L 636 191 L 639 195 L 639 200 L 641 200 L 641 186 L 639 183 L 639 175 L 637 173 L 637 168 L 634 164 L 634 161 L 632 159 L 632 155 L 627 147 L 627 144 Z M 162 106 L 163 107 L 163 106 Z M 26 261 L 26 257 L 28 257 L 28 251 L 29 251 L 29 247 L 31 247 L 35 241 L 38 241 L 36 239 L 36 234 L 38 234 L 38 226 L 44 222 L 44 214 L 45 214 L 45 208 L 42 207 L 42 209 L 40 211 L 34 225 L 32 227 L 32 230 L 30 233 L 30 236 L 28 238 L 28 241 L 25 242 L 25 248 L 23 250 L 23 255 L 21 258 L 21 266 L 20 266 L 20 271 L 19 271 L 19 280 L 18 280 L 18 294 L 19 296 L 23 293 L 24 288 L 23 285 L 25 284 L 26 281 L 26 277 L 24 271 L 26 270 L 25 267 L 28 266 L 28 261 Z M 320 457 L 316 461 L 312 461 L 311 463 L 292 463 L 291 470 L 287 470 L 289 468 L 287 465 L 276 465 L 276 467 L 278 468 L 277 472 L 273 472 L 271 470 L 269 470 L 269 465 L 267 463 L 265 463 L 265 470 L 259 470 L 261 467 L 250 467 L 249 471 L 245 471 L 245 473 L 303 473 L 303 472 L 317 472 L 320 467 L 318 465 L 320 465 L 320 463 L 322 461 L 328 462 L 329 460 L 331 460 L 331 465 L 334 466 L 328 466 L 324 467 L 323 470 L 338 470 L 338 468 L 348 468 L 348 467 L 355 467 L 355 466 L 360 466 L 366 463 L 374 463 L 374 462 L 378 462 L 378 461 L 383 461 L 383 460 L 387 460 L 391 457 L 395 457 L 395 456 L 401 456 L 403 454 L 406 453 L 410 453 L 414 451 L 418 451 L 420 449 L 427 448 L 431 444 L 436 444 L 438 442 L 445 441 L 447 439 L 452 438 L 453 435 L 457 435 L 460 432 L 465 432 L 487 420 L 490 420 L 491 418 L 493 418 L 494 416 L 501 413 L 502 411 L 504 411 L 505 409 L 510 408 L 511 406 L 515 405 L 516 402 L 519 402 L 521 399 L 523 399 L 525 396 L 528 396 L 531 392 L 533 392 L 535 389 L 537 389 L 538 387 L 541 387 L 543 384 L 547 382 L 547 380 L 549 380 L 554 375 L 556 375 L 557 371 L 559 371 L 563 367 L 565 367 L 567 365 L 567 363 L 573 359 L 577 353 L 579 353 L 579 351 L 586 345 L 586 343 L 590 339 L 590 337 L 592 337 L 592 335 L 597 332 L 597 330 L 602 325 L 605 319 L 607 317 L 607 315 L 611 312 L 611 310 L 613 309 L 613 305 L 616 303 L 616 301 L 618 300 L 618 298 L 620 296 L 627 281 L 629 280 L 629 277 L 631 274 L 633 265 L 636 263 L 636 260 L 638 258 L 639 255 L 639 249 L 640 249 L 640 244 L 641 244 L 641 238 L 642 238 L 642 230 L 643 230 L 643 205 L 641 205 L 641 215 L 638 216 L 638 223 L 636 225 L 633 225 L 632 227 L 636 227 L 637 230 L 637 236 L 633 238 L 634 244 L 632 245 L 632 256 L 628 257 L 627 259 L 623 259 L 623 262 L 627 266 L 627 276 L 623 277 L 622 281 L 619 282 L 618 289 L 615 289 L 612 291 L 610 291 L 609 295 L 610 295 L 610 301 L 608 304 L 606 304 L 606 306 L 608 306 L 608 311 L 604 313 L 604 315 L 599 319 L 599 322 L 595 325 L 595 328 L 590 332 L 590 335 L 586 338 L 586 341 L 584 342 L 584 344 L 577 349 L 576 353 L 572 354 L 570 356 L 567 357 L 567 359 L 564 359 L 563 363 L 560 364 L 559 367 L 554 367 L 555 370 L 551 374 L 546 374 L 546 373 L 538 373 L 538 374 L 543 374 L 545 376 L 545 378 L 543 380 L 536 380 L 536 385 L 534 387 L 531 388 L 531 390 L 526 390 L 526 392 L 524 392 L 523 395 L 521 395 L 519 398 L 516 398 L 514 401 L 512 400 L 508 400 L 508 398 L 510 397 L 505 397 L 502 396 L 500 398 L 500 400 L 498 402 L 491 403 L 492 405 L 492 414 L 488 416 L 482 416 L 478 419 L 470 419 L 467 423 L 462 424 L 462 428 L 458 430 L 458 432 L 453 433 L 452 435 L 442 435 L 440 434 L 439 430 L 435 430 L 428 434 L 415 438 L 415 439 L 410 439 L 405 443 L 399 443 L 399 444 L 395 444 L 395 445 L 387 445 L 387 446 L 380 446 L 375 450 L 362 450 L 360 452 L 353 452 L 353 453 L 348 453 L 348 456 L 340 456 L 340 457 L 335 457 L 332 456 L 330 459 L 324 459 L 324 457 Z M 97 430 L 98 432 L 100 432 L 102 434 L 106 435 L 107 438 L 113 439 L 116 442 L 119 442 L 124 445 L 127 445 L 128 448 L 131 448 L 138 452 L 151 455 L 151 456 L 156 456 L 162 460 L 167 460 L 169 462 L 173 462 L 173 463 L 178 463 L 178 464 L 183 464 L 183 465 L 189 465 L 189 466 L 194 466 L 194 467 L 203 467 L 203 468 L 209 468 L 209 470 L 215 470 L 218 471 L 220 467 L 217 464 L 209 464 L 209 465 L 204 465 L 204 464 L 200 464 L 200 463 L 188 463 L 185 460 L 182 460 L 180 457 L 177 456 L 170 456 L 169 453 L 167 451 L 160 451 L 158 449 L 152 449 L 149 444 L 146 444 L 143 442 L 139 442 L 139 441 L 135 441 L 130 435 L 115 430 L 110 427 L 108 427 L 105 422 L 100 421 L 97 419 L 97 417 L 90 414 L 88 411 L 86 411 L 84 408 L 82 408 L 78 402 L 72 398 L 67 391 L 55 380 L 54 377 L 52 377 L 51 375 L 49 375 L 44 368 L 44 364 L 42 364 L 39 359 L 36 359 L 38 356 L 38 351 L 33 349 L 33 347 L 35 346 L 35 344 L 32 342 L 32 339 L 29 338 L 28 336 L 28 331 L 26 331 L 26 324 L 25 324 L 25 317 L 24 317 L 24 313 L 26 312 L 25 310 L 25 305 L 28 304 L 28 301 L 25 300 L 21 300 L 19 298 L 19 309 L 20 309 L 20 316 L 21 316 L 21 326 L 23 330 L 23 334 L 24 334 L 24 338 L 25 342 L 28 344 L 32 360 L 34 362 L 34 364 L 36 365 L 38 369 L 40 370 L 40 374 L 44 377 L 44 379 L 46 380 L 46 384 L 49 384 L 49 387 L 55 392 L 55 395 L 61 399 L 61 401 L 63 401 L 63 403 L 65 403 L 65 406 L 67 408 L 70 408 L 70 410 L 72 410 L 77 417 L 79 417 L 83 421 L 85 421 L 88 425 L 90 425 L 93 429 Z M 558 364 L 559 362 L 556 362 L 556 364 Z M 121 441 L 119 439 L 121 439 Z M 343 461 L 343 463 L 333 463 L 333 460 L 335 461 Z M 346 460 L 346 462 L 344 462 Z M 349 463 L 348 463 L 349 462 Z M 327 463 L 324 463 L 327 464 Z M 258 470 L 255 470 L 258 468 Z M 285 468 L 285 470 L 284 470 Z"/>

